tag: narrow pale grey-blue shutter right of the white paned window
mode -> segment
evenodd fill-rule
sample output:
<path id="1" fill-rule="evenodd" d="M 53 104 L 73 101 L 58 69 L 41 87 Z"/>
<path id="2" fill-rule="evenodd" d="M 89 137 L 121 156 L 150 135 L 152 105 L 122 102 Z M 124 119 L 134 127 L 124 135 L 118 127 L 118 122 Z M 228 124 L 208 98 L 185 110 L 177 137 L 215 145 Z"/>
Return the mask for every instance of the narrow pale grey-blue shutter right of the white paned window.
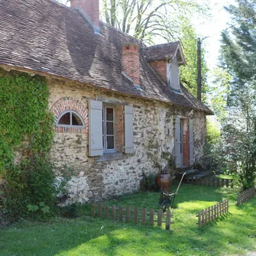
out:
<path id="1" fill-rule="evenodd" d="M 133 152 L 133 107 L 125 105 L 125 153 Z"/>

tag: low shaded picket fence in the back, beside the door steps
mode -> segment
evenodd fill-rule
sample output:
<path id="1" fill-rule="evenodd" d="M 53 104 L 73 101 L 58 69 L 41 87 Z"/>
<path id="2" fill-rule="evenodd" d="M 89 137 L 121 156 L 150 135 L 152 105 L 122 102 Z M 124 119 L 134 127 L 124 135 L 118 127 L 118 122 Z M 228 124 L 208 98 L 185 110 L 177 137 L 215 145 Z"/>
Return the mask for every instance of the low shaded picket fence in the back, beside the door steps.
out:
<path id="1" fill-rule="evenodd" d="M 233 187 L 233 181 L 228 179 L 217 179 L 215 177 L 188 177 L 186 183 L 205 186 L 226 186 Z"/>

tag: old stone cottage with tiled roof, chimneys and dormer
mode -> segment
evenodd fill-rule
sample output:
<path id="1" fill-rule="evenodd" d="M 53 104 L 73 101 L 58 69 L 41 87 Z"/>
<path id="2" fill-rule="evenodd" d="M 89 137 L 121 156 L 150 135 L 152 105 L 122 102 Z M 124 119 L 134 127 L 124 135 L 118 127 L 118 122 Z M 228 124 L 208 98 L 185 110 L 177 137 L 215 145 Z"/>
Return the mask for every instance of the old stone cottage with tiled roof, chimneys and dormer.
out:
<path id="1" fill-rule="evenodd" d="M 146 47 L 99 21 L 99 0 L 0 0 L 0 68 L 47 78 L 52 157 L 76 170 L 71 199 L 139 188 L 176 156 L 199 164 L 212 111 L 179 79 L 180 42 Z"/>

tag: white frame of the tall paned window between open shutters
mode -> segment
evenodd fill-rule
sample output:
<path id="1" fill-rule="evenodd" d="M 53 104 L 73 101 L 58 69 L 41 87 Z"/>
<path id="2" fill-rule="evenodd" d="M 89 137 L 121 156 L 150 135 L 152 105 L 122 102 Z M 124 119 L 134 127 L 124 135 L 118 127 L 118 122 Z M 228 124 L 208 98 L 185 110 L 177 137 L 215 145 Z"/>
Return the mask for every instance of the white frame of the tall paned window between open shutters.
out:
<path id="1" fill-rule="evenodd" d="M 108 135 L 106 134 L 106 129 L 107 129 L 107 120 L 106 120 L 106 116 L 107 116 L 107 112 L 106 109 L 113 109 L 113 131 L 114 131 L 114 148 L 112 149 L 107 149 L 107 137 Z M 103 134 L 102 134 L 102 140 L 104 140 L 103 142 L 103 153 L 113 153 L 116 152 L 116 133 L 115 133 L 115 106 L 113 105 L 103 105 Z"/>

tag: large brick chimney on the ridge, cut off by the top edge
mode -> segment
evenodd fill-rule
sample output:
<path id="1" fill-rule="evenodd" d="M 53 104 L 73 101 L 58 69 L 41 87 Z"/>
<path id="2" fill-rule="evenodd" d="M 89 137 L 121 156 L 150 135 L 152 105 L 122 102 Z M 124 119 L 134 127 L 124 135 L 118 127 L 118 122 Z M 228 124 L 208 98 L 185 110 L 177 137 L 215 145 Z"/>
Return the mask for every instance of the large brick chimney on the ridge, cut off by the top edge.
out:
<path id="1" fill-rule="evenodd" d="M 99 33 L 99 0 L 70 0 L 70 7 L 77 8 L 91 24 L 96 33 Z"/>

